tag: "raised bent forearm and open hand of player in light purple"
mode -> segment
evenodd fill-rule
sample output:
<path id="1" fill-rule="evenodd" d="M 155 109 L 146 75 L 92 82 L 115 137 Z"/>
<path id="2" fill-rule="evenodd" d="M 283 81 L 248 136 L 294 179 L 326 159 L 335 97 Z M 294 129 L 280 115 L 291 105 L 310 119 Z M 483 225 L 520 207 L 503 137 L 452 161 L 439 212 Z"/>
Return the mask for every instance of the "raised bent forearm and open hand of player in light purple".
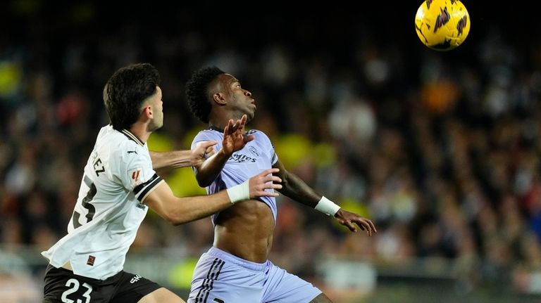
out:
<path id="1" fill-rule="evenodd" d="M 222 148 L 204 162 L 194 165 L 195 178 L 199 186 L 209 186 L 220 174 L 229 157 L 237 150 L 244 148 L 246 143 L 254 140 L 254 135 L 244 135 L 247 118 L 247 115 L 243 115 L 235 124 L 233 120 L 229 120 L 228 126 L 223 130 Z"/>

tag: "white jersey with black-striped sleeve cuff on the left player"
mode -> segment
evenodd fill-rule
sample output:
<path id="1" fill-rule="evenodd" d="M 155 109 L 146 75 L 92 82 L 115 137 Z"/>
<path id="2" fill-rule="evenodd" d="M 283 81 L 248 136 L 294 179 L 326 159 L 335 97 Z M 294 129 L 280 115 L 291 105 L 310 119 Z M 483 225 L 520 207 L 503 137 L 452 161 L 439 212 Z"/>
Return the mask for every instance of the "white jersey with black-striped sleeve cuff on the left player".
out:
<path id="1" fill-rule="evenodd" d="M 144 199 L 163 180 L 152 169 L 147 143 L 108 125 L 99 131 L 68 224 L 68 234 L 42 252 L 52 266 L 104 280 L 123 270 L 147 214 Z"/>

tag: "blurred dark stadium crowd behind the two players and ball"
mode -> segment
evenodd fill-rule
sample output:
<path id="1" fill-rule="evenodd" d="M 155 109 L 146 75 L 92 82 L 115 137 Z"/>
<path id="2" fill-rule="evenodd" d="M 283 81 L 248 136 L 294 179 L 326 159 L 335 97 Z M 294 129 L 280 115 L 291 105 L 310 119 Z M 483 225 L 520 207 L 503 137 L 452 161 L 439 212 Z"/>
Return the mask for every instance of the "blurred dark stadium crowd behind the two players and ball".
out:
<path id="1" fill-rule="evenodd" d="M 372 3 L 373 2 L 373 3 Z M 406 3 L 411 2 L 411 3 Z M 155 150 L 205 126 L 183 86 L 202 65 L 255 96 L 250 125 L 292 172 L 371 217 L 349 234 L 279 200 L 270 259 L 344 302 L 536 302 L 541 293 L 541 45 L 526 3 L 464 1 L 471 32 L 447 53 L 413 30 L 415 1 L 0 4 L 0 298 L 39 302 L 39 251 L 65 233 L 118 67 L 163 77 Z M 190 169 L 163 175 L 201 194 Z M 149 213 L 126 269 L 186 297 L 208 219 Z"/>

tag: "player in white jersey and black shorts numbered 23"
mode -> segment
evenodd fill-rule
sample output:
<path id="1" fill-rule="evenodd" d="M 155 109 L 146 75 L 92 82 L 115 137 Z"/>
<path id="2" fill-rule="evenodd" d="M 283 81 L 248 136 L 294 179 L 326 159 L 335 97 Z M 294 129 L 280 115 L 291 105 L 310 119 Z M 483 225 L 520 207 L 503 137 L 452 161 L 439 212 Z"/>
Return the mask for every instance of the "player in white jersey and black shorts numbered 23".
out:
<path id="1" fill-rule="evenodd" d="M 108 80 L 104 103 L 111 124 L 99 131 L 85 166 L 68 234 L 42 252 L 49 259 L 43 302 L 184 302 L 170 290 L 123 271 L 126 253 L 148 208 L 176 225 L 236 202 L 277 195 L 273 189 L 281 186 L 273 183 L 280 178 L 266 170 L 216 195 L 175 197 L 154 167 L 196 165 L 216 142 L 177 153 L 173 160 L 154 154 L 153 165 L 146 142 L 163 125 L 159 82 L 158 71 L 147 63 L 120 68 Z M 228 122 L 222 141 L 226 153 L 251 140 L 243 133 L 244 122 Z"/>

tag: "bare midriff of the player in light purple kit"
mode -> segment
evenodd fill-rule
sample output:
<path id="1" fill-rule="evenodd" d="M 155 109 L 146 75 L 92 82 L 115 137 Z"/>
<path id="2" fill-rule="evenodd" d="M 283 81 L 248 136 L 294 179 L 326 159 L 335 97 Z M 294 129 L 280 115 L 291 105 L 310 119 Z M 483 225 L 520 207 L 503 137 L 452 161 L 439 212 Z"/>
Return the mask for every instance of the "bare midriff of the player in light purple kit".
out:
<path id="1" fill-rule="evenodd" d="M 214 228 L 214 247 L 247 261 L 267 261 L 273 244 L 273 212 L 264 202 L 238 202 L 220 212 Z"/>

